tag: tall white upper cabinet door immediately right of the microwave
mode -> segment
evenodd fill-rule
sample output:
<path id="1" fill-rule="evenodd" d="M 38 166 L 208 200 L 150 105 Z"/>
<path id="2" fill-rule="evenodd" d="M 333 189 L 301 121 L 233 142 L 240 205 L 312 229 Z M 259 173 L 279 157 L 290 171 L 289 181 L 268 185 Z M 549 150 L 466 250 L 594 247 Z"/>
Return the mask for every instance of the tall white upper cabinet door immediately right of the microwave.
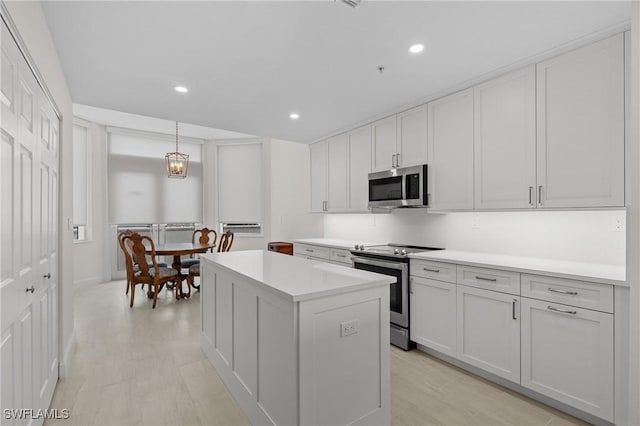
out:
<path id="1" fill-rule="evenodd" d="M 473 89 L 430 102 L 427 112 L 431 210 L 473 209 Z"/>

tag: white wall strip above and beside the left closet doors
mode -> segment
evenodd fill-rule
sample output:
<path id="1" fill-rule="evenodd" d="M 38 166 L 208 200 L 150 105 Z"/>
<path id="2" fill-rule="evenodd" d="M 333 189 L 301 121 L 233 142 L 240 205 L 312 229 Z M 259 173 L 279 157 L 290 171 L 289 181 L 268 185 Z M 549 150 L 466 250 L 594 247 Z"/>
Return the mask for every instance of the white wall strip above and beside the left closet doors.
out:
<path id="1" fill-rule="evenodd" d="M 40 71 L 60 112 L 60 350 L 61 374 L 64 375 L 74 341 L 73 326 L 73 118 L 71 94 L 58 59 L 40 2 L 4 2 L 27 50 Z"/>

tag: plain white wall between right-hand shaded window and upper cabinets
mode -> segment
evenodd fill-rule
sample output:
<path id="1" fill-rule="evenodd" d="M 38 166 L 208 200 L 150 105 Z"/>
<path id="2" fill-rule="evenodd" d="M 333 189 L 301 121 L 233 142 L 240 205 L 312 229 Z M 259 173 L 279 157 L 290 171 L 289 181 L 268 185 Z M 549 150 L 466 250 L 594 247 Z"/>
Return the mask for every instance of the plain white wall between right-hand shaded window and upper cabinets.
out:
<path id="1" fill-rule="evenodd" d="M 322 235 L 322 215 L 309 213 L 309 145 L 271 141 L 270 241 Z"/>

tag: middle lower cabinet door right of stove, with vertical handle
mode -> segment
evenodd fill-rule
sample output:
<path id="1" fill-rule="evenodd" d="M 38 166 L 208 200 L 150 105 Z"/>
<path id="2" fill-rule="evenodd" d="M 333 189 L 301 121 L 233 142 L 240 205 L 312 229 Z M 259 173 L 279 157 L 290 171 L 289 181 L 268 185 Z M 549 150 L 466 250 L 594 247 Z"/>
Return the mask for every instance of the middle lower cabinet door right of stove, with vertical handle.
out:
<path id="1" fill-rule="evenodd" d="M 458 359 L 520 383 L 520 297 L 458 285 Z"/>

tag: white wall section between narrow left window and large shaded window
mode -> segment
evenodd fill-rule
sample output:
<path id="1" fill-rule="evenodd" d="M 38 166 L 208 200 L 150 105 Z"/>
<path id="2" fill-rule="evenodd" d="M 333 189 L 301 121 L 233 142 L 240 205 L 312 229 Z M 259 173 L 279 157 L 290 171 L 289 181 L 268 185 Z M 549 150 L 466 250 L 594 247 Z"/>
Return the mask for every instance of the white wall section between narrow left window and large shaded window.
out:
<path id="1" fill-rule="evenodd" d="M 110 279 L 107 238 L 107 136 L 104 126 L 84 123 L 88 127 L 89 228 L 87 241 L 73 243 L 73 278 L 76 286 L 97 284 Z"/>

